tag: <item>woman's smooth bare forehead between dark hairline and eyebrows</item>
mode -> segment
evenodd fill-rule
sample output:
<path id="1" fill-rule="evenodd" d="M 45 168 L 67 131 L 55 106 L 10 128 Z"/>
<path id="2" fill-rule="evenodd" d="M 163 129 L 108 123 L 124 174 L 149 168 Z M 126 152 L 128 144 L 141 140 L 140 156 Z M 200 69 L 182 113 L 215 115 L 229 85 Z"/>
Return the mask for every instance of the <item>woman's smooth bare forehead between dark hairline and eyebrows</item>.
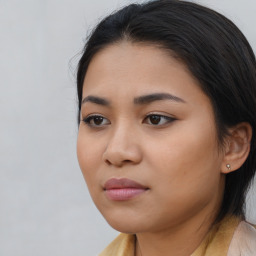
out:
<path id="1" fill-rule="evenodd" d="M 140 96 L 163 90 L 177 97 L 208 98 L 187 67 L 167 50 L 122 41 L 93 57 L 85 76 L 83 97 L 91 93 Z"/>

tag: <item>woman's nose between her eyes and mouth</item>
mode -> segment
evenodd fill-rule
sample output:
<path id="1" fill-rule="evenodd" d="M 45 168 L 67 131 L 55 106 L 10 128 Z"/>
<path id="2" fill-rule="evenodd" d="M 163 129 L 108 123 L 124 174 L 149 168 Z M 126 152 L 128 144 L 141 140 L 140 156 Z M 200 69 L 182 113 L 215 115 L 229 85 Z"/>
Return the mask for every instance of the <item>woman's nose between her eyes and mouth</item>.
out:
<path id="1" fill-rule="evenodd" d="M 103 160 L 116 167 L 139 164 L 142 160 L 142 150 L 135 132 L 129 127 L 115 130 L 108 140 Z"/>

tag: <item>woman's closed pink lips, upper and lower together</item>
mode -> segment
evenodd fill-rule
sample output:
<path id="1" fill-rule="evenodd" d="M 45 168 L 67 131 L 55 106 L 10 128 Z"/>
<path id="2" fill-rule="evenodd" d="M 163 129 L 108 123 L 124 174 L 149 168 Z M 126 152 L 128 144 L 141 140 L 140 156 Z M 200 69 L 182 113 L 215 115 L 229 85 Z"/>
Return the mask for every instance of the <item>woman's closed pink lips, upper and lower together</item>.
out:
<path id="1" fill-rule="evenodd" d="M 104 190 L 107 197 L 113 201 L 126 201 L 132 199 L 145 191 L 148 188 L 129 179 L 113 178 L 108 180 L 104 185 Z"/>

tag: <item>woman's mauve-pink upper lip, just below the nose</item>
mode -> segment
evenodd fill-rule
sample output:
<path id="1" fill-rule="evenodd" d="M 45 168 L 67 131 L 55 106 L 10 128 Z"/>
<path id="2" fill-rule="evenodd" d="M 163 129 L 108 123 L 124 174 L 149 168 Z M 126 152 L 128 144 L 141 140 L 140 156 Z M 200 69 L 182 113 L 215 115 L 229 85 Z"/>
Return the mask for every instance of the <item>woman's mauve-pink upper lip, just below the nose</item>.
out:
<path id="1" fill-rule="evenodd" d="M 147 187 L 141 185 L 140 183 L 127 178 L 112 178 L 112 179 L 109 179 L 104 184 L 104 190 L 122 189 L 122 188 L 147 189 Z"/>

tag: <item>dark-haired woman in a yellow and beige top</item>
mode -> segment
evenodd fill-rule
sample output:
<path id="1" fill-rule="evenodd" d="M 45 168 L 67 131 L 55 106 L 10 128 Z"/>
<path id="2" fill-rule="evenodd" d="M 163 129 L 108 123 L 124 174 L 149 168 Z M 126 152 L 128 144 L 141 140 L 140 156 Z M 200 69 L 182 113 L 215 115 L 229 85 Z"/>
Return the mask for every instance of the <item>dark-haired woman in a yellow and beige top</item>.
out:
<path id="1" fill-rule="evenodd" d="M 105 18 L 79 62 L 77 153 L 122 232 L 106 255 L 246 255 L 256 166 L 256 62 L 222 15 L 177 0 Z"/>

